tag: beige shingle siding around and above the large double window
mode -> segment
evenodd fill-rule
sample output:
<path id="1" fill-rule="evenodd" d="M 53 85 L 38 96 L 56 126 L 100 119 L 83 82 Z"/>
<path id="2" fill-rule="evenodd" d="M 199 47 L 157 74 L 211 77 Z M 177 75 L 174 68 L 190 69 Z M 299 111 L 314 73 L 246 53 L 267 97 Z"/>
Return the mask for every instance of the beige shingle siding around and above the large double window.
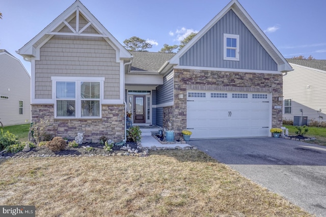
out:
<path id="1" fill-rule="evenodd" d="M 120 65 L 103 38 L 52 37 L 35 61 L 35 99 L 51 99 L 51 76 L 105 77 L 104 99 L 120 99 Z"/>

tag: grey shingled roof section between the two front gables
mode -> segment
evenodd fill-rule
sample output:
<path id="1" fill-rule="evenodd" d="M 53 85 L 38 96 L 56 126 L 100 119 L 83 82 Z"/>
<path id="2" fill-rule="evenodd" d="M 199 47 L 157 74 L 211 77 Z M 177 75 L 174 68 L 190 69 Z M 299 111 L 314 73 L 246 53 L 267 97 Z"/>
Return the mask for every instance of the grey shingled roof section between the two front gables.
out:
<path id="1" fill-rule="evenodd" d="M 130 51 L 133 55 L 131 72 L 158 72 L 175 53 Z"/>

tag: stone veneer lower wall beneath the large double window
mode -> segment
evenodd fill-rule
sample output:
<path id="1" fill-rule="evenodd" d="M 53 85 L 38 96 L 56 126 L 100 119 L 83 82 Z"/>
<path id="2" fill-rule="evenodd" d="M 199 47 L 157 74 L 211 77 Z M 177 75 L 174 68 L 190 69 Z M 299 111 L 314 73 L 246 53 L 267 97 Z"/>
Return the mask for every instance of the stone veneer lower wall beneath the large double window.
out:
<path id="1" fill-rule="evenodd" d="M 32 105 L 32 122 L 49 121 L 46 134 L 74 139 L 84 133 L 83 142 L 99 142 L 100 136 L 113 141 L 124 139 L 124 106 L 102 105 L 102 118 L 98 119 L 55 119 L 53 105 Z"/>

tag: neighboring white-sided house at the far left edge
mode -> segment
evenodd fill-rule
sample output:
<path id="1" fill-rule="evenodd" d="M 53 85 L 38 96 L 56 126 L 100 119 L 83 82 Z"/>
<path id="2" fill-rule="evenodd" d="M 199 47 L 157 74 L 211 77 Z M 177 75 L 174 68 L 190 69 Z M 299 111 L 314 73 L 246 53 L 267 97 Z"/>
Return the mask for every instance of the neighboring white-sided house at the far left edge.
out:
<path id="1" fill-rule="evenodd" d="M 31 121 L 31 76 L 19 59 L 0 49 L 0 121 L 4 126 Z"/>

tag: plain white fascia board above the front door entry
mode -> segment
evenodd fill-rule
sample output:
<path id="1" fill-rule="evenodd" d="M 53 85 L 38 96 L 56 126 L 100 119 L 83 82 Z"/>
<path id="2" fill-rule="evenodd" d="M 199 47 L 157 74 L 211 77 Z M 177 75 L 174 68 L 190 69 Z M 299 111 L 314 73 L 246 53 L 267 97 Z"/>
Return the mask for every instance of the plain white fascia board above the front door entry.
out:
<path id="1" fill-rule="evenodd" d="M 125 84 L 129 85 L 161 85 L 163 84 L 163 76 L 161 75 L 146 75 L 146 74 L 126 74 Z"/>

